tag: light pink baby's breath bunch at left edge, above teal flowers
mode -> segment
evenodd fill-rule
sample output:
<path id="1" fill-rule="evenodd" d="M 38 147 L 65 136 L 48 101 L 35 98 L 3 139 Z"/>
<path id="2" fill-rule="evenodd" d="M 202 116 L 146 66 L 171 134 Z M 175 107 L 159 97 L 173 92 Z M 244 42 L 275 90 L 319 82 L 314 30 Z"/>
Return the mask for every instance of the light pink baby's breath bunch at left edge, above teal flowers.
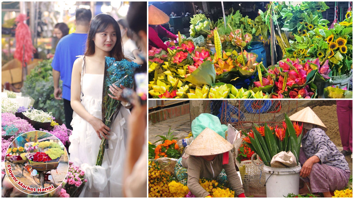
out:
<path id="1" fill-rule="evenodd" d="M 15 125 L 18 129 L 16 135 L 22 134 L 28 131 L 35 131 L 33 126 L 28 123 L 27 120 L 16 117 L 16 115 L 11 113 L 1 113 L 1 126 L 11 126 Z"/>

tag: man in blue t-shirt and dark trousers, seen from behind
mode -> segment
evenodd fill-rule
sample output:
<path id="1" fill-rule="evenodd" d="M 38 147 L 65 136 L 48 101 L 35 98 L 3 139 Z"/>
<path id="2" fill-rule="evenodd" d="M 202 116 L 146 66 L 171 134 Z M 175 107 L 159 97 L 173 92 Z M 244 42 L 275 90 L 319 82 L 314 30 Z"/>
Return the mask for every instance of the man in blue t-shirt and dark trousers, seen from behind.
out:
<path id="1" fill-rule="evenodd" d="M 68 129 L 73 120 L 73 109 L 70 105 L 71 74 L 76 56 L 84 55 L 87 32 L 91 21 L 91 11 L 79 8 L 75 14 L 75 33 L 64 36 L 57 44 L 52 61 L 54 98 L 64 101 L 65 125 Z M 59 87 L 59 78 L 63 81 L 63 90 Z"/>

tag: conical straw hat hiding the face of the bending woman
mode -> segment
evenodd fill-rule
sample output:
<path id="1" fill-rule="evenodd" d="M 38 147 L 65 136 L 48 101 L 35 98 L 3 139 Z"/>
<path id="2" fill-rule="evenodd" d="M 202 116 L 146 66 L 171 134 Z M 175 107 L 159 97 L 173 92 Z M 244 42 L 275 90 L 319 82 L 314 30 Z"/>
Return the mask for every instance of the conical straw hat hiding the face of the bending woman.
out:
<path id="1" fill-rule="evenodd" d="M 205 128 L 185 149 L 185 153 L 189 155 L 216 155 L 228 152 L 233 148 L 225 138 L 221 137 L 215 131 Z"/>

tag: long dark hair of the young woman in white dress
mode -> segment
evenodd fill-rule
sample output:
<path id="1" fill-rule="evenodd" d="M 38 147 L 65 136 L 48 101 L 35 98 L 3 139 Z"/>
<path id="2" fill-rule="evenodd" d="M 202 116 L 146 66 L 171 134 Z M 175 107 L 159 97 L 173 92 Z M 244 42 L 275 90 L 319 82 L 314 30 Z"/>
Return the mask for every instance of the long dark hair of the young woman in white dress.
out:
<path id="1" fill-rule="evenodd" d="M 114 57 L 116 61 L 121 61 L 122 59 L 124 59 L 122 38 L 120 34 L 119 25 L 112 16 L 103 13 L 93 17 L 90 23 L 89 35 L 87 35 L 87 49 L 85 52 L 85 56 L 93 55 L 95 53 L 95 42 L 93 41 L 93 39 L 95 38 L 96 33 L 103 32 L 105 29 L 107 29 L 109 25 L 113 26 L 113 29 L 115 30 L 115 34 L 117 36 L 117 41 L 115 42 L 113 49 L 109 52 L 110 57 Z"/>

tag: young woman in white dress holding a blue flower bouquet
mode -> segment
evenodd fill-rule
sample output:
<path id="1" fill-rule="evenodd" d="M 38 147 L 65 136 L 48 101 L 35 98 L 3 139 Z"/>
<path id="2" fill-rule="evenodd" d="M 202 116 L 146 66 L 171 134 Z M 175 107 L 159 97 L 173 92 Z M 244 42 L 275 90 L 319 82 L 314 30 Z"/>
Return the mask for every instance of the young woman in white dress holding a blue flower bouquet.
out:
<path id="1" fill-rule="evenodd" d="M 71 82 L 73 133 L 69 137 L 69 153 L 70 161 L 85 171 L 88 180 L 80 197 L 122 197 L 126 124 L 131 106 L 120 96 L 111 95 L 122 101 L 122 106 L 111 128 L 102 122 L 104 57 L 123 59 L 121 44 L 118 23 L 109 15 L 99 14 L 91 21 L 85 55 L 74 62 Z M 105 150 L 102 166 L 96 166 L 102 137 L 109 140 L 109 149 Z"/>

